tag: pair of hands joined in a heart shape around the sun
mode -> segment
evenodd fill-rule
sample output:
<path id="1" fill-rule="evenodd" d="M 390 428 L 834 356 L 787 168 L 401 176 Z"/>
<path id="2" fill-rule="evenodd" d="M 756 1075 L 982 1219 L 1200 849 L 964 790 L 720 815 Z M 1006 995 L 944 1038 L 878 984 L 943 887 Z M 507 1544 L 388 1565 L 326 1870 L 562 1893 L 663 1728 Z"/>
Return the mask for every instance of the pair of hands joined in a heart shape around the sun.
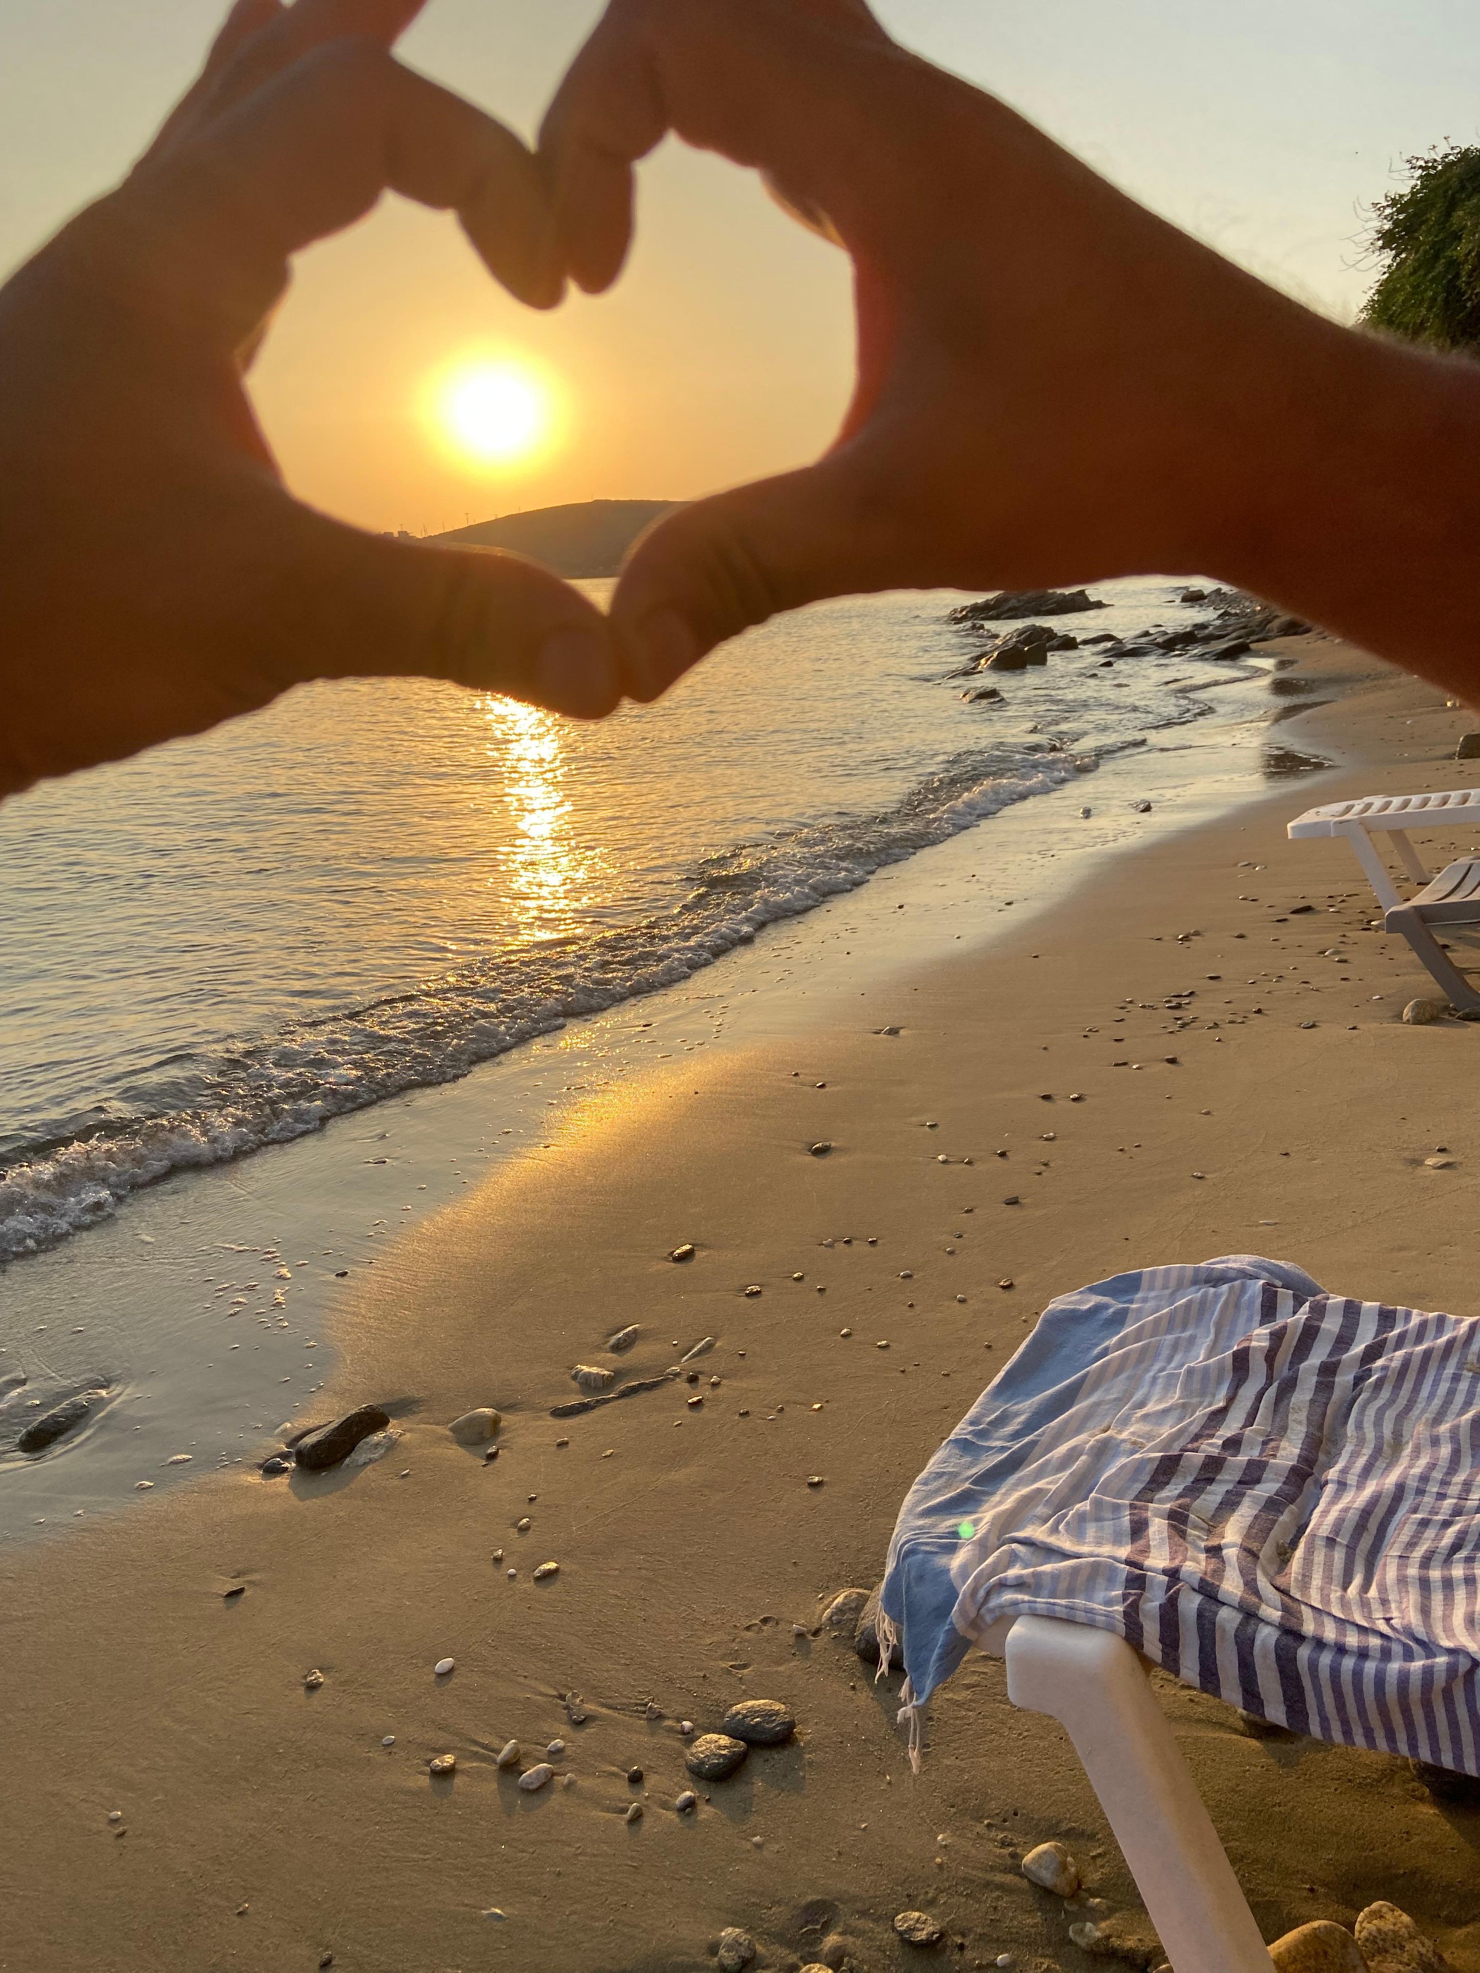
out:
<path id="1" fill-rule="evenodd" d="M 1202 568 L 1468 679 L 1474 367 L 1298 308 L 862 0 L 612 0 L 537 158 L 391 57 L 420 6 L 237 0 L 126 183 L 0 290 L 0 795 L 312 677 L 598 716 L 776 610 L 904 586 Z M 391 185 L 549 308 L 616 278 L 667 130 L 852 256 L 858 381 L 823 460 L 661 523 L 610 623 L 533 564 L 284 491 L 241 377 L 292 253 Z"/>

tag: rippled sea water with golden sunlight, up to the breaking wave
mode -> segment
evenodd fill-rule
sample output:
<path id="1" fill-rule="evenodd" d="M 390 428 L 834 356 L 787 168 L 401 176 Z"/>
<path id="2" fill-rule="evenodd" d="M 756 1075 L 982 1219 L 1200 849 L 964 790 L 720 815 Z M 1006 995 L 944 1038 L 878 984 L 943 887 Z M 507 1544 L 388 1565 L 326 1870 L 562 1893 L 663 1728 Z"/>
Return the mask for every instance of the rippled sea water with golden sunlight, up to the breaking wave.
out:
<path id="1" fill-rule="evenodd" d="M 1064 627 L 1196 618 L 1168 578 L 1097 594 Z M 428 683 L 308 687 L 6 803 L 0 1261 L 671 985 L 1227 681 L 1070 651 L 969 706 L 945 681 L 973 649 L 957 600 L 797 612 L 602 726 Z"/>

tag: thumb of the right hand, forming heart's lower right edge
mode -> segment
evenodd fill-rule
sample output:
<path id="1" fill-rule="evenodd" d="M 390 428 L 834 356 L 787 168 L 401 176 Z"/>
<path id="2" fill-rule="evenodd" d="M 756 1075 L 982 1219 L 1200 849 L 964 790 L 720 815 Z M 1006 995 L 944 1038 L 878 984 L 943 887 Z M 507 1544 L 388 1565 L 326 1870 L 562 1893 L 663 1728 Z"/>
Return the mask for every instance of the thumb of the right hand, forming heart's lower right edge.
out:
<path id="1" fill-rule="evenodd" d="M 679 509 L 643 535 L 612 598 L 624 689 L 657 698 L 781 610 L 910 586 L 906 525 L 904 501 L 870 487 L 847 450 Z"/>

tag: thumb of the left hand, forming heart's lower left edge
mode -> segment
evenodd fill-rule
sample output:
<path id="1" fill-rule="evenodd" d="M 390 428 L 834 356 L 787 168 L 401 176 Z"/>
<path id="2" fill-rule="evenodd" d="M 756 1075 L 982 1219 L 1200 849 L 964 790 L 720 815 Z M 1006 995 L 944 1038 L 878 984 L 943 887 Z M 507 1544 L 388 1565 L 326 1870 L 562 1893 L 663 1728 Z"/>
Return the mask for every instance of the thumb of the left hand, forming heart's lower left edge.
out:
<path id="1" fill-rule="evenodd" d="M 600 718 L 620 700 L 606 618 L 513 554 L 365 535 L 262 489 L 253 552 L 235 580 L 243 594 L 225 614 L 243 625 L 255 661 L 270 651 L 278 687 L 448 679 L 574 718 Z"/>

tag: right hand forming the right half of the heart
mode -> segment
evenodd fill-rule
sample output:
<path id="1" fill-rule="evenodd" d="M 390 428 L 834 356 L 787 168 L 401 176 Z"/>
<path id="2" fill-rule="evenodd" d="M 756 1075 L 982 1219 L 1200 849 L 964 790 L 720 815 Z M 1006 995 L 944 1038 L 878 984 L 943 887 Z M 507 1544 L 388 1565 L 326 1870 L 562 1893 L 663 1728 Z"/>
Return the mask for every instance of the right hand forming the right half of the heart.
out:
<path id="1" fill-rule="evenodd" d="M 614 600 L 633 696 L 845 592 L 1168 568 L 1281 594 L 1267 487 L 1310 491 L 1302 446 L 1342 456 L 1369 339 L 902 51 L 860 0 L 612 0 L 541 132 L 582 288 L 616 278 L 631 164 L 667 130 L 758 166 L 851 253 L 858 377 L 817 466 L 637 547 Z"/>

